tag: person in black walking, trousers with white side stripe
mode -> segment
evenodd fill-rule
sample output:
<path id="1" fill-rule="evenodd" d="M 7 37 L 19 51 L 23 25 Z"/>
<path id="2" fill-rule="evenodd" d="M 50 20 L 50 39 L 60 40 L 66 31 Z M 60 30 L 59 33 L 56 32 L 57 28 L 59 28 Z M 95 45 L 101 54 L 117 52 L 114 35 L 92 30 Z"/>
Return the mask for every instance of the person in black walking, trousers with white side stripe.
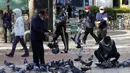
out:
<path id="1" fill-rule="evenodd" d="M 61 35 L 62 41 L 64 43 L 65 49 L 64 52 L 68 53 L 68 33 L 66 32 L 66 20 L 67 18 L 64 16 L 64 14 L 60 17 L 60 22 L 56 23 L 56 31 L 55 31 L 55 37 L 53 38 L 53 41 L 55 42 L 57 38 Z"/>

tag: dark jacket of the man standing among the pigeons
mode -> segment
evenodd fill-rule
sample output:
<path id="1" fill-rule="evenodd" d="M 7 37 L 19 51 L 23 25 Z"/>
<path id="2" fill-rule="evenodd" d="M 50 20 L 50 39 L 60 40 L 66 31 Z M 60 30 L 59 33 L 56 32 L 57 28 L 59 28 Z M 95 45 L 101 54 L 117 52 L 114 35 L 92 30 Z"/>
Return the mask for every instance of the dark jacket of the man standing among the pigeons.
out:
<path id="1" fill-rule="evenodd" d="M 48 32 L 45 20 L 41 20 L 39 15 L 37 15 L 32 19 L 31 23 L 31 40 L 43 41 L 45 33 Z"/>

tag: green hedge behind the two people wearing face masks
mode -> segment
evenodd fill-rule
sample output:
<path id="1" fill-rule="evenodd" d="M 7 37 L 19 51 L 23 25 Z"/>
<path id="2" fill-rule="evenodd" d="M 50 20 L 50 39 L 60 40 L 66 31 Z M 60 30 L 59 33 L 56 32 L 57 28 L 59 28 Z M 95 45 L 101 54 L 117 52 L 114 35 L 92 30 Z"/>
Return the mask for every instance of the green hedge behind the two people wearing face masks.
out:
<path id="1" fill-rule="evenodd" d="M 91 6 L 91 11 L 95 14 L 99 12 L 99 7 Z M 108 16 L 111 16 L 113 20 L 116 20 L 116 13 L 130 13 L 130 8 L 105 8 L 105 11 L 108 13 Z"/>

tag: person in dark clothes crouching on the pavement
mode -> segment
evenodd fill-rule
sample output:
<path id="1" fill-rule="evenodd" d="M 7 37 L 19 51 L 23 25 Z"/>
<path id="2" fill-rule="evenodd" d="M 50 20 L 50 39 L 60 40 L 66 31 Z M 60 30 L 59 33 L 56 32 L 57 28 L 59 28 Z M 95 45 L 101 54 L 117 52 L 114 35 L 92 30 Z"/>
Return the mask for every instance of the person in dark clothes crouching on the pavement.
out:
<path id="1" fill-rule="evenodd" d="M 114 40 L 112 40 L 109 36 L 106 36 L 100 41 L 99 48 L 94 52 L 94 54 L 100 63 L 110 60 L 111 58 L 115 58 L 111 61 L 113 65 L 117 63 L 117 60 L 120 57 Z"/>

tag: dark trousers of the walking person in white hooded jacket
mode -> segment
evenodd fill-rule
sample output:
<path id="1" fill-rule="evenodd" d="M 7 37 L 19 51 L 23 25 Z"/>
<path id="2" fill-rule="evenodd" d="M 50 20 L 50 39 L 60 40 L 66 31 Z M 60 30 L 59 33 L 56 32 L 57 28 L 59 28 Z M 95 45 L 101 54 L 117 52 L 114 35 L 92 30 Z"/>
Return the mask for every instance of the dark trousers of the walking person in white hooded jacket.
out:
<path id="1" fill-rule="evenodd" d="M 26 46 L 26 44 L 25 44 L 25 42 L 24 42 L 23 36 L 16 36 L 16 37 L 14 38 L 11 53 L 14 54 L 15 49 L 16 49 L 16 46 L 17 46 L 17 44 L 18 44 L 19 41 L 20 41 L 21 45 L 23 46 L 23 48 L 24 48 L 24 50 L 25 50 L 25 54 L 28 54 L 29 52 L 28 52 L 27 46 Z"/>

